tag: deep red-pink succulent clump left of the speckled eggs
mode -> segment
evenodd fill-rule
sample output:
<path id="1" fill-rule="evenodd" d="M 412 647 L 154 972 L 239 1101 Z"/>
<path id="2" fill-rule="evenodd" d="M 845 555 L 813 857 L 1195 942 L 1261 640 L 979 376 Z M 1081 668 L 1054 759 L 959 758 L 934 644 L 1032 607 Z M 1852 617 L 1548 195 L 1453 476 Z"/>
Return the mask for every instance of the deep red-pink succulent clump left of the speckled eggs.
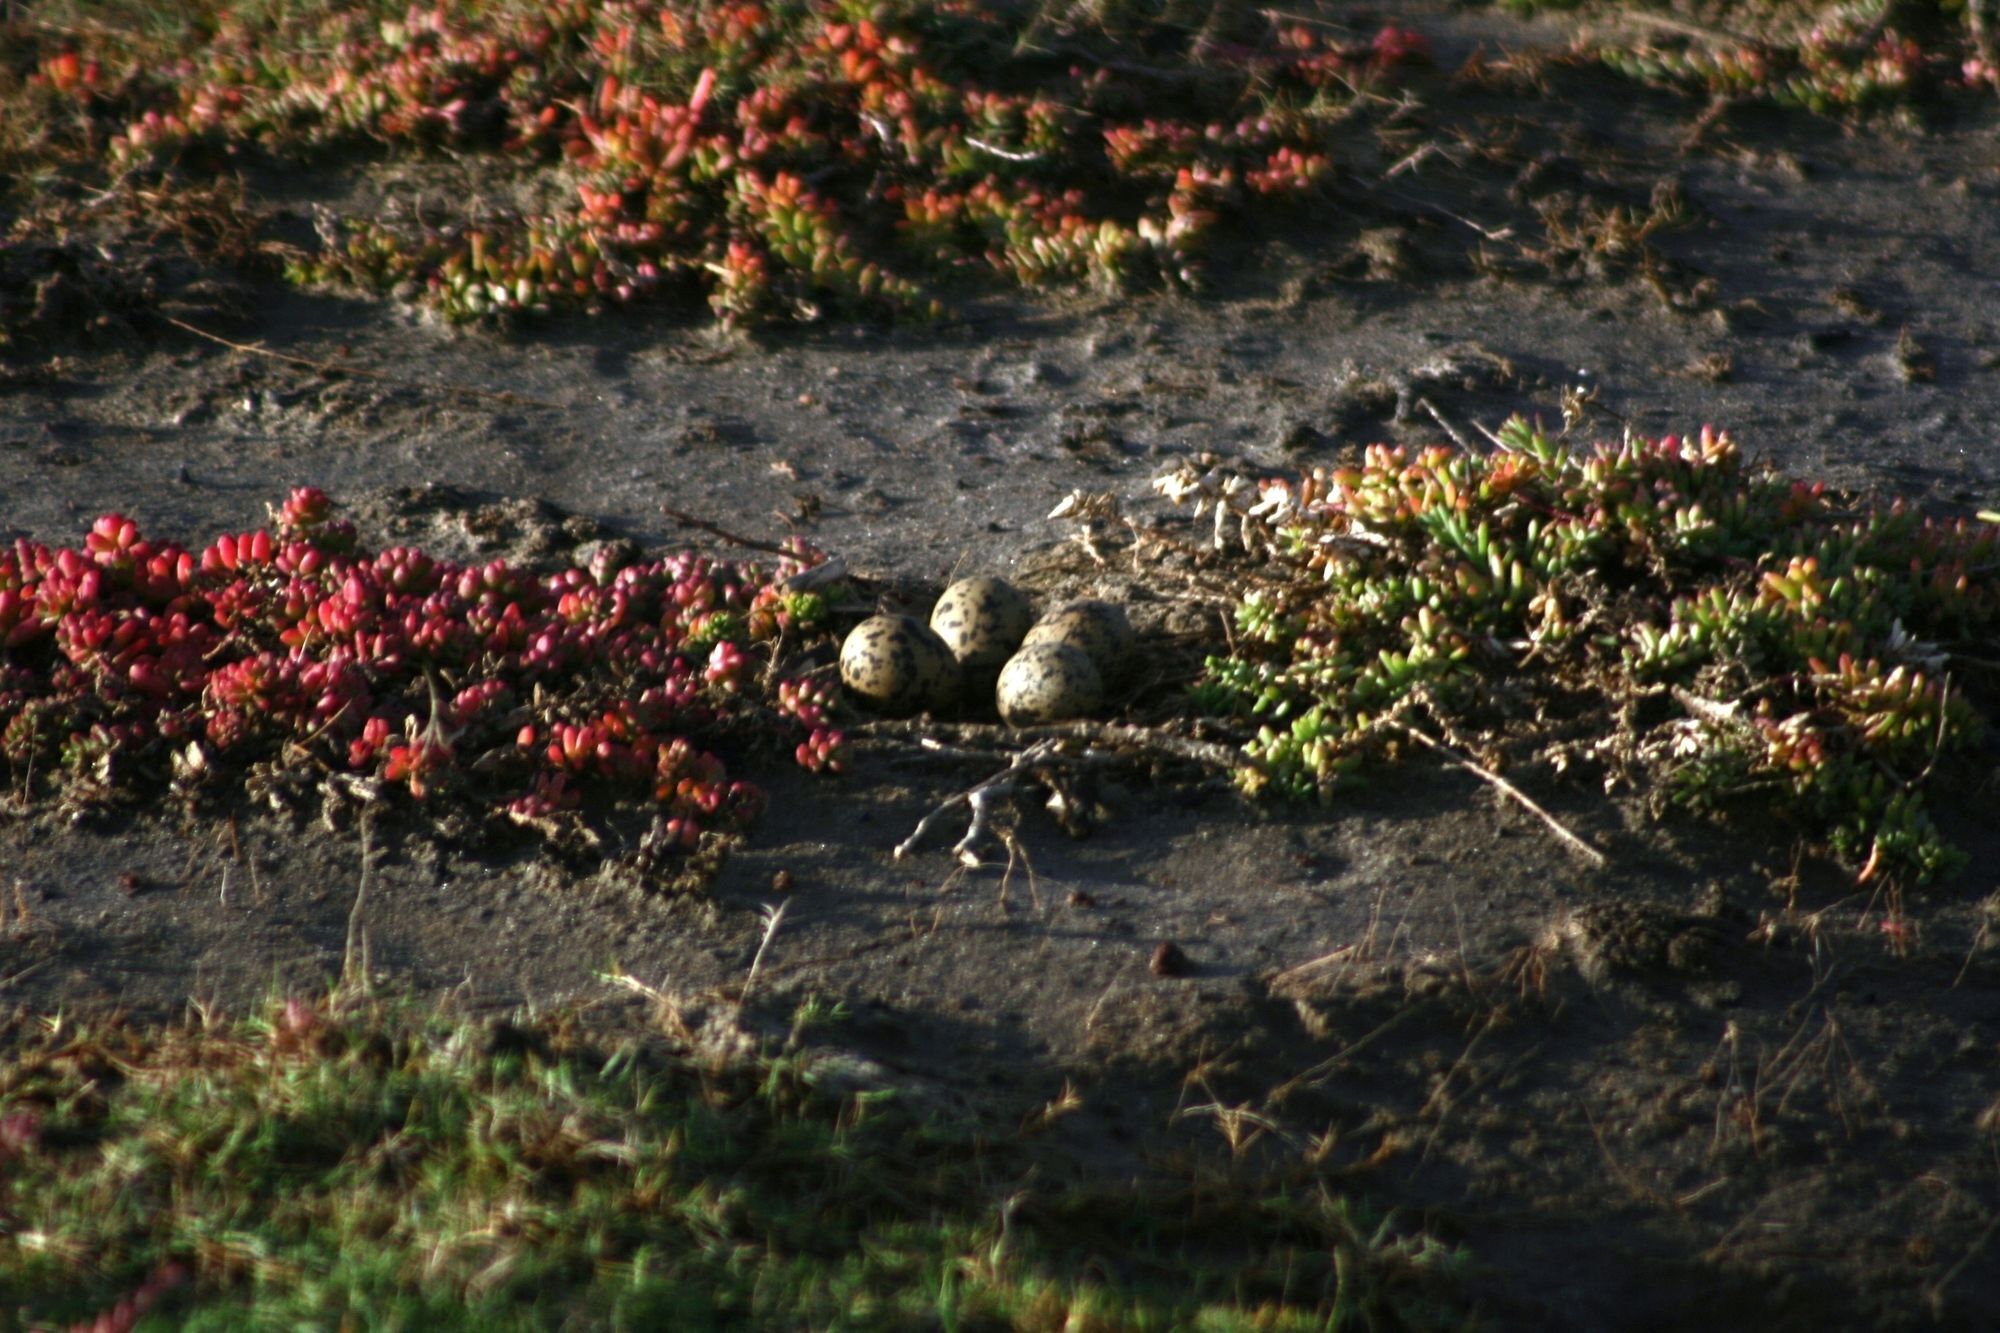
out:
<path id="1" fill-rule="evenodd" d="M 840 767 L 830 687 L 762 697 L 760 644 L 824 616 L 780 586 L 798 562 L 600 550 L 546 574 L 370 552 L 310 488 L 200 552 L 118 514 L 82 546 L 18 540 L 0 552 L 0 755 L 26 795 L 196 795 L 278 765 L 478 797 L 552 835 L 596 791 L 650 807 L 670 849 L 758 809 L 704 739 L 756 719 L 784 745 L 796 731 L 802 765 Z"/>

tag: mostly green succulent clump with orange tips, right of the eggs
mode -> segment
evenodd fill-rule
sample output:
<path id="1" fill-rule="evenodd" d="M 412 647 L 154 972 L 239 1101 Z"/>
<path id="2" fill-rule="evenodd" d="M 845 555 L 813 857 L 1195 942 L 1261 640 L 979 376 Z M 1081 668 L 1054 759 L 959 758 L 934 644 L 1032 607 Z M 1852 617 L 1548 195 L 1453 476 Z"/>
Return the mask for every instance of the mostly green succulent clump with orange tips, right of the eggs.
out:
<path id="1" fill-rule="evenodd" d="M 1776 801 L 1864 879 L 1960 861 L 1924 793 L 1986 725 L 1986 658 L 1962 654 L 2000 630 L 2000 526 L 1758 472 L 1708 428 L 1572 448 L 1514 420 L 1490 454 L 1160 488 L 1266 562 L 1196 687 L 1258 725 L 1260 783 L 1328 795 L 1410 707 L 1566 695 L 1670 715 L 1594 749 L 1614 775 Z"/>

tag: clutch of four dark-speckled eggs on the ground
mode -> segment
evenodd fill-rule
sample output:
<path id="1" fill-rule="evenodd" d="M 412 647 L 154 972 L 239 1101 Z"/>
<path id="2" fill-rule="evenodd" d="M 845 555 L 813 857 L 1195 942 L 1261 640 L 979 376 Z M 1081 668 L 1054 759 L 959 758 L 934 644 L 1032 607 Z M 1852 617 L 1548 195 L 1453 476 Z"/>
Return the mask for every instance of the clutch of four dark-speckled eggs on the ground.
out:
<path id="1" fill-rule="evenodd" d="M 930 624 L 870 616 L 840 646 L 840 681 L 882 713 L 950 709 L 992 691 L 1012 727 L 1090 717 L 1132 658 L 1124 606 L 1064 602 L 1040 620 L 1004 578 L 962 578 Z"/>

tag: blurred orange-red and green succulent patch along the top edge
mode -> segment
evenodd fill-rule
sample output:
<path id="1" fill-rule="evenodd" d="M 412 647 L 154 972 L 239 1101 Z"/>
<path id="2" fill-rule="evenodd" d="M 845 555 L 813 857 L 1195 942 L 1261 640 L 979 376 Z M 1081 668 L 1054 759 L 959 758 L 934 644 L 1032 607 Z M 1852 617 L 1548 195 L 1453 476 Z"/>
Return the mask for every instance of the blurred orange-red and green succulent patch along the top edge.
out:
<path id="1" fill-rule="evenodd" d="M 1192 278 L 1220 220 L 1322 192 L 1340 108 L 1424 54 L 1250 14 L 1142 22 L 1126 54 L 1186 48 L 1154 68 L 1026 8 L 900 0 L 212 6 L 164 56 L 102 24 L 18 36 L 118 172 L 384 144 L 558 200 L 338 220 L 302 282 L 454 318 L 700 294 L 732 322 L 930 312 L 964 272 Z"/>

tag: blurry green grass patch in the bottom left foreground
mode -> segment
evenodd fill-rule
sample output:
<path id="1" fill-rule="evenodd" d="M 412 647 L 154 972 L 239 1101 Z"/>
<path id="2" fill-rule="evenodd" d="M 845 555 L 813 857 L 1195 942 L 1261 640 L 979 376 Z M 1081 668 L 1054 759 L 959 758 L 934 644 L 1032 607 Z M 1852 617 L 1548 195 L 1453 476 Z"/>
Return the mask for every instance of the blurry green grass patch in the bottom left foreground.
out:
<path id="1" fill-rule="evenodd" d="M 0 1327 L 1320 1329 L 1454 1257 L 1310 1163 L 1102 1183 L 1026 1137 L 566 1021 L 274 1001 L 32 1021 L 0 1073 Z M 138 1293 L 138 1297 L 134 1297 Z M 134 1309 L 134 1301 L 136 1307 Z"/>

